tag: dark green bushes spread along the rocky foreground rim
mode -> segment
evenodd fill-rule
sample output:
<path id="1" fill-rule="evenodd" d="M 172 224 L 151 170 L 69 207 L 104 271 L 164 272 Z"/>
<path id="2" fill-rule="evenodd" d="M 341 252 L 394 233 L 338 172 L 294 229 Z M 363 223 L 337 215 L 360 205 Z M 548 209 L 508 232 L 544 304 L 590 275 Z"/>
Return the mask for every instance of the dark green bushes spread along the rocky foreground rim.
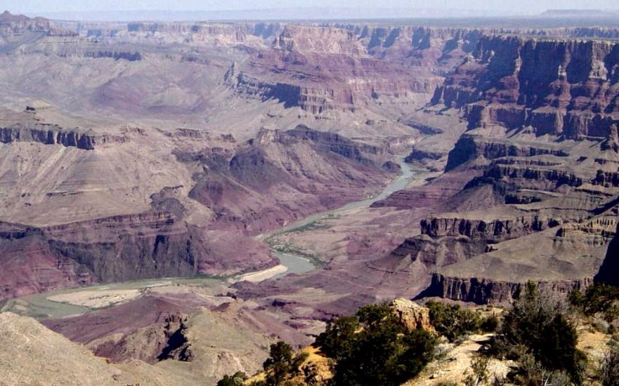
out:
<path id="1" fill-rule="evenodd" d="M 476 333 L 489 338 L 462 374 L 464 385 L 619 386 L 619 344 L 613 335 L 619 288 L 594 284 L 566 298 L 528 283 L 502 317 L 441 302 L 426 307 L 431 325 L 426 329 L 409 330 L 386 304 L 367 305 L 330 321 L 314 343 L 327 357 L 326 375 L 306 364 L 306 353 L 294 354 L 278 342 L 271 345 L 260 378 L 236 373 L 218 386 L 401 385 L 441 359 L 442 347 L 457 346 Z M 608 334 L 604 357 L 587 358 L 578 349 L 579 324 Z M 490 361 L 508 363 L 509 371 L 492 373 Z"/>

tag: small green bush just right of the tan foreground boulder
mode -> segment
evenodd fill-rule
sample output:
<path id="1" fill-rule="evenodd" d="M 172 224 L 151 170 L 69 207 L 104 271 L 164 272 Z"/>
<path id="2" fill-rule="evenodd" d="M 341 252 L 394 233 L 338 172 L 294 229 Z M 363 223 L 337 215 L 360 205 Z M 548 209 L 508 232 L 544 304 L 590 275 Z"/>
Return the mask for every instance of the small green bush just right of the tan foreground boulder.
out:
<path id="1" fill-rule="evenodd" d="M 481 318 L 476 312 L 464 310 L 459 305 L 444 305 L 439 302 L 427 302 L 430 310 L 430 323 L 436 331 L 454 342 L 469 333 L 479 331 Z"/>

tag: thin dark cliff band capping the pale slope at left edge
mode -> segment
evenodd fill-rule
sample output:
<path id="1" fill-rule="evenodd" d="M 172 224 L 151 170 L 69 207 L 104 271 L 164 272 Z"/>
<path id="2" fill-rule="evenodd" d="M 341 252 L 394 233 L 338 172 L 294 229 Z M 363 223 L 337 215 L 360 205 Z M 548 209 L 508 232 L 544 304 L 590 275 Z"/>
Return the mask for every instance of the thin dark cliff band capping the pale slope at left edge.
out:
<path id="1" fill-rule="evenodd" d="M 40 142 L 45 145 L 63 145 L 83 150 L 93 150 L 107 143 L 122 143 L 128 138 L 123 135 L 108 135 L 68 131 L 60 126 L 37 124 L 34 126 L 14 125 L 0 127 L 0 142 Z"/>

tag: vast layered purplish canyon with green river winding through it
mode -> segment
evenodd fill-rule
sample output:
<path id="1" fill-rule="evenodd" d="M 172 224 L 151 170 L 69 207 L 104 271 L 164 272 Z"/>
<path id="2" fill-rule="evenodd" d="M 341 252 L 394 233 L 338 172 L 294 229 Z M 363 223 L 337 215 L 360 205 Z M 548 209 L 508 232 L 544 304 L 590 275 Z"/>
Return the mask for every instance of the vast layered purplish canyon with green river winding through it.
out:
<path id="1" fill-rule="evenodd" d="M 372 302 L 617 284 L 619 27 L 539 22 L 1 14 L 0 318 L 211 384 Z"/>

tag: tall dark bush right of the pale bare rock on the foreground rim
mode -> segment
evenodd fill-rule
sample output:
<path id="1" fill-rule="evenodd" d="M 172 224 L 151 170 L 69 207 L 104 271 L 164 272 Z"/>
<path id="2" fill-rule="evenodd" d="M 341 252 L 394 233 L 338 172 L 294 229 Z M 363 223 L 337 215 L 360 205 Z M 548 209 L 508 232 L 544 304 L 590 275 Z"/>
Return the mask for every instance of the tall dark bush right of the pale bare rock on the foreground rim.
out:
<path id="1" fill-rule="evenodd" d="M 576 349 L 576 329 L 564 313 L 561 301 L 540 293 L 535 284 L 527 284 L 505 315 L 493 350 L 500 354 L 520 351 L 520 361 L 528 358 L 522 351 L 528 351 L 541 369 L 557 374 L 566 371 L 575 384 L 580 384 L 586 357 Z"/>

